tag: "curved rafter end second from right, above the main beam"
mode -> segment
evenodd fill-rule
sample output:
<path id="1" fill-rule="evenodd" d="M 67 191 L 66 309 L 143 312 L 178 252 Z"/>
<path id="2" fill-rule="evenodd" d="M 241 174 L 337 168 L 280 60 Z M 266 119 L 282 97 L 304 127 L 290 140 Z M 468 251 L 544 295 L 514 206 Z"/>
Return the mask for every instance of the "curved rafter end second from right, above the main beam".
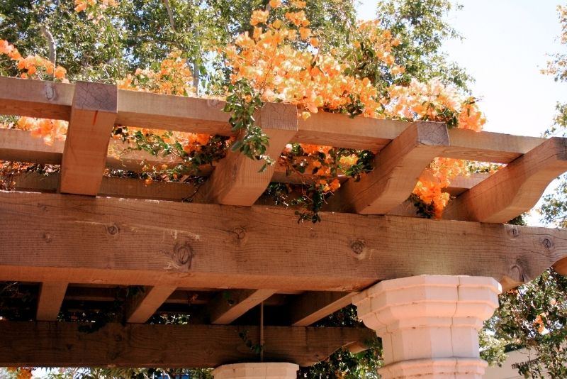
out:
<path id="1" fill-rule="evenodd" d="M 376 155 L 374 171 L 344 183 L 326 210 L 387 214 L 408 199 L 422 171 L 447 145 L 444 123 L 412 123 Z"/>

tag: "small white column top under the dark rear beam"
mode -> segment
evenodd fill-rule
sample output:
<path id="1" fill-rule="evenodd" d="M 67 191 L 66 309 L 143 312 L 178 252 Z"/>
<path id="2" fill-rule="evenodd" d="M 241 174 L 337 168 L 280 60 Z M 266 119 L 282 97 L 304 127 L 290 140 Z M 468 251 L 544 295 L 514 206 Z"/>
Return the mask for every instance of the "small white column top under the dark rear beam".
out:
<path id="1" fill-rule="evenodd" d="M 218 366 L 215 379 L 296 379 L 299 366 L 293 363 L 236 363 Z"/>

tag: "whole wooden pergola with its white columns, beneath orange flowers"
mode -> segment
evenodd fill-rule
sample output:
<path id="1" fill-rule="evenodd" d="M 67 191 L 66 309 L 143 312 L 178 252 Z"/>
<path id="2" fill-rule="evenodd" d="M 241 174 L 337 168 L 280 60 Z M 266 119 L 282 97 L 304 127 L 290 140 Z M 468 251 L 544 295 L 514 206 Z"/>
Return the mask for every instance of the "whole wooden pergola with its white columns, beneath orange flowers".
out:
<path id="1" fill-rule="evenodd" d="M 215 378 L 295 378 L 296 365 L 342 346 L 364 349 L 376 331 L 382 378 L 481 378 L 477 331 L 501 288 L 551 266 L 567 273 L 567 231 L 503 224 L 567 171 L 564 138 L 325 113 L 303 121 L 295 106 L 266 104 L 257 119 L 271 156 L 291 142 L 376 153 L 376 169 L 343 182 L 319 224 L 298 224 L 293 209 L 262 197 L 270 182 L 302 178 L 277 165 L 259 172 L 262 163 L 237 153 L 203 170 L 200 187 L 103 176 L 142 160 L 171 163 L 108 155 L 120 144 L 113 126 L 228 136 L 222 108 L 108 84 L 0 77 L 0 114 L 69 121 L 66 141 L 53 145 L 0 129 L 0 160 L 61 165 L 47 177 L 18 175 L 16 190 L 0 192 L 0 280 L 37 295 L 35 321 L 0 322 L 0 366 L 218 367 Z M 455 180 L 444 219 L 422 219 L 407 199 L 434 157 L 507 166 Z M 122 323 L 86 334 L 55 321 L 61 309 L 96 309 L 128 286 L 143 290 L 125 299 Z M 353 303 L 374 331 L 310 326 Z M 160 312 L 191 322 L 147 323 Z M 251 345 L 262 345 L 263 362 Z"/>

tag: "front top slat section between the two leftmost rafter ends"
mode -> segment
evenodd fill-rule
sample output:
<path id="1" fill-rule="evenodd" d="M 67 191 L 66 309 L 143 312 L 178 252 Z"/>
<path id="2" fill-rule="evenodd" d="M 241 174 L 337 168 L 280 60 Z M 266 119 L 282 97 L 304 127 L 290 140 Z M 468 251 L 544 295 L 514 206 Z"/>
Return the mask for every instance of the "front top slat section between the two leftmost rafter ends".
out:
<path id="1" fill-rule="evenodd" d="M 230 136 L 225 101 L 118 91 L 118 125 Z"/>

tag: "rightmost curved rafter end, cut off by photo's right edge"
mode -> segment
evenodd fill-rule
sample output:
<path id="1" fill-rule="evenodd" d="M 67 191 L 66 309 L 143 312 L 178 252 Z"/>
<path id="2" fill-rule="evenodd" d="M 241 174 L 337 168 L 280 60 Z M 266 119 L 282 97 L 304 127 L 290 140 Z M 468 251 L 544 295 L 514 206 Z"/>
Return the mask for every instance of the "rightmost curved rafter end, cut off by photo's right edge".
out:
<path id="1" fill-rule="evenodd" d="M 549 183 L 566 171 L 567 138 L 551 138 L 449 202 L 443 217 L 509 221 L 532 209 Z"/>

